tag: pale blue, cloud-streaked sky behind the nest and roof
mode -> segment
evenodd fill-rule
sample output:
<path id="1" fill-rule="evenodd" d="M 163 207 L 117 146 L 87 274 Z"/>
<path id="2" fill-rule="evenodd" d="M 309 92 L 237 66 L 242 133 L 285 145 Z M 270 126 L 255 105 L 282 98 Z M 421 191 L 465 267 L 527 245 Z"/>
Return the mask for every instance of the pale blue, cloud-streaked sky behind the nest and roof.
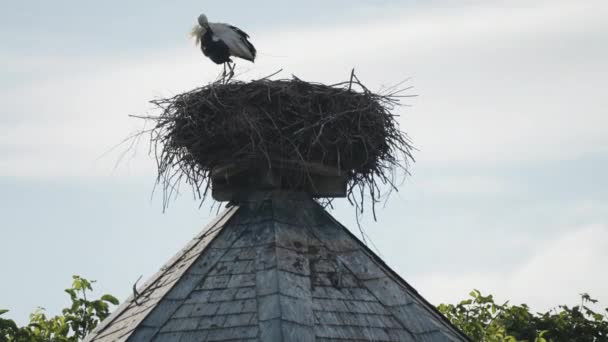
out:
<path id="1" fill-rule="evenodd" d="M 408 79 L 416 163 L 363 226 L 430 302 L 608 306 L 608 2 L 38 0 L 0 3 L 3 317 L 58 313 L 73 274 L 125 299 L 215 216 L 189 192 L 163 212 L 147 141 L 119 145 L 220 71 L 188 38 L 201 12 L 251 35 L 243 80 Z"/>

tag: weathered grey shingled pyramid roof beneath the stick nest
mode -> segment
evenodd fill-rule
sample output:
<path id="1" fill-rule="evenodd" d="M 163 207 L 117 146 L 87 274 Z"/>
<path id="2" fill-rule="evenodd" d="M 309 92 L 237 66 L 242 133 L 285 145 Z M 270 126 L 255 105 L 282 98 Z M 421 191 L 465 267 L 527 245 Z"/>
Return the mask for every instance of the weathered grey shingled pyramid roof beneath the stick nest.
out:
<path id="1" fill-rule="evenodd" d="M 468 341 L 309 196 L 226 209 L 85 341 Z"/>

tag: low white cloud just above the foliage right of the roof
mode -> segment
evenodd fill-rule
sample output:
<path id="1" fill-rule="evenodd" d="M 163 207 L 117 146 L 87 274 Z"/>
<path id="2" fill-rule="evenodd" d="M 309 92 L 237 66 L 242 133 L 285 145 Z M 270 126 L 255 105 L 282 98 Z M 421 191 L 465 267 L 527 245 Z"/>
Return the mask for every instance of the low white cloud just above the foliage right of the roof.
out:
<path id="1" fill-rule="evenodd" d="M 482 293 L 495 294 L 498 301 L 527 303 L 539 311 L 559 304 L 577 304 L 583 292 L 590 293 L 607 307 L 606 265 L 608 226 L 592 225 L 538 243 L 533 256 L 510 271 L 419 274 L 410 280 L 433 303 L 455 303 L 472 289 L 479 289 Z"/>

